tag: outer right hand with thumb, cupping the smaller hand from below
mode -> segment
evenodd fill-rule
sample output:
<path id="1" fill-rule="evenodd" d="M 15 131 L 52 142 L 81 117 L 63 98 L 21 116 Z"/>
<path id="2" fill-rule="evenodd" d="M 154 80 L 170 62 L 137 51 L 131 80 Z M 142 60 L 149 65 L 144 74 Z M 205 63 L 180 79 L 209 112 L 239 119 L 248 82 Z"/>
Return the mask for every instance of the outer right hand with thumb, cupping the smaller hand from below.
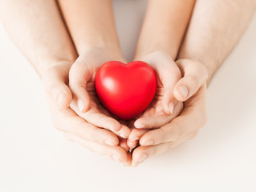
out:
<path id="1" fill-rule="evenodd" d="M 200 62 L 188 59 L 178 60 L 177 65 L 183 78 L 175 85 L 173 94 L 179 101 L 187 100 L 185 108 L 177 118 L 159 129 L 146 132 L 140 138 L 140 146 L 132 153 L 132 166 L 196 137 L 198 130 L 205 126 L 207 70 Z"/>

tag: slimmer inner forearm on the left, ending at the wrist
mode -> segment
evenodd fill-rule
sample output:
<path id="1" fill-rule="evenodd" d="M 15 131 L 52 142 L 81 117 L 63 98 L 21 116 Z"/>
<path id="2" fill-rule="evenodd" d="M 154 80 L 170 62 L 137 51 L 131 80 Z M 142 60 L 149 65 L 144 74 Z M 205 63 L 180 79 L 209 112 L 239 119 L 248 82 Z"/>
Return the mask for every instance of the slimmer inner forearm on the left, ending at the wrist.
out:
<path id="1" fill-rule="evenodd" d="M 79 54 L 88 46 L 120 53 L 111 0 L 59 0 L 59 6 Z"/>

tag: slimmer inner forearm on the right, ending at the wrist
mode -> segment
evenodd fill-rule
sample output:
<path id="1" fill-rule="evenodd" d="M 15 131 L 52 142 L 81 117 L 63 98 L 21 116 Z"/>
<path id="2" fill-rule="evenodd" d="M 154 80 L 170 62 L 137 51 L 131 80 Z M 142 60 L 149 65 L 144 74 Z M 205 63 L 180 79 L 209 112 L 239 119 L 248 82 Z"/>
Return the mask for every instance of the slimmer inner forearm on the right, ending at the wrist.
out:
<path id="1" fill-rule="evenodd" d="M 173 59 L 181 46 L 194 0 L 150 0 L 136 49 L 136 58 L 154 50 L 168 52 Z"/>

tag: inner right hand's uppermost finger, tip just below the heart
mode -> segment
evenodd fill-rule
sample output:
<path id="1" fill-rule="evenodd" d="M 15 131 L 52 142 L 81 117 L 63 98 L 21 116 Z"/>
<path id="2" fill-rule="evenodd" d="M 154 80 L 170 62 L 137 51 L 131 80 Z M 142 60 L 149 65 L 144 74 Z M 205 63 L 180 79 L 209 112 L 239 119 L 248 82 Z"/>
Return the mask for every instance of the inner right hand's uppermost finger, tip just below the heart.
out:
<path id="1" fill-rule="evenodd" d="M 169 123 L 173 120 L 173 118 L 177 117 L 180 114 L 180 111 L 183 108 L 182 102 L 176 102 L 175 109 L 173 110 L 173 114 L 167 115 L 165 113 L 149 116 L 149 117 L 141 117 L 134 122 L 134 126 L 137 129 L 156 129 L 161 126 L 165 126 L 165 124 Z"/>

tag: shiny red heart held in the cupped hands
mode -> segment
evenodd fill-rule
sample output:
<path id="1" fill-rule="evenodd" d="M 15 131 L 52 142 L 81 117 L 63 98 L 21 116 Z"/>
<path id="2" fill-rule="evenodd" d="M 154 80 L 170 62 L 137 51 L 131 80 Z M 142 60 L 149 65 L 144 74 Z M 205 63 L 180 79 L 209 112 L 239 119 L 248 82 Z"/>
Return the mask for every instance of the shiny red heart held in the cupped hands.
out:
<path id="1" fill-rule="evenodd" d="M 131 119 L 147 108 L 156 93 L 156 74 L 146 62 L 106 62 L 95 76 L 100 102 L 117 117 Z"/>

